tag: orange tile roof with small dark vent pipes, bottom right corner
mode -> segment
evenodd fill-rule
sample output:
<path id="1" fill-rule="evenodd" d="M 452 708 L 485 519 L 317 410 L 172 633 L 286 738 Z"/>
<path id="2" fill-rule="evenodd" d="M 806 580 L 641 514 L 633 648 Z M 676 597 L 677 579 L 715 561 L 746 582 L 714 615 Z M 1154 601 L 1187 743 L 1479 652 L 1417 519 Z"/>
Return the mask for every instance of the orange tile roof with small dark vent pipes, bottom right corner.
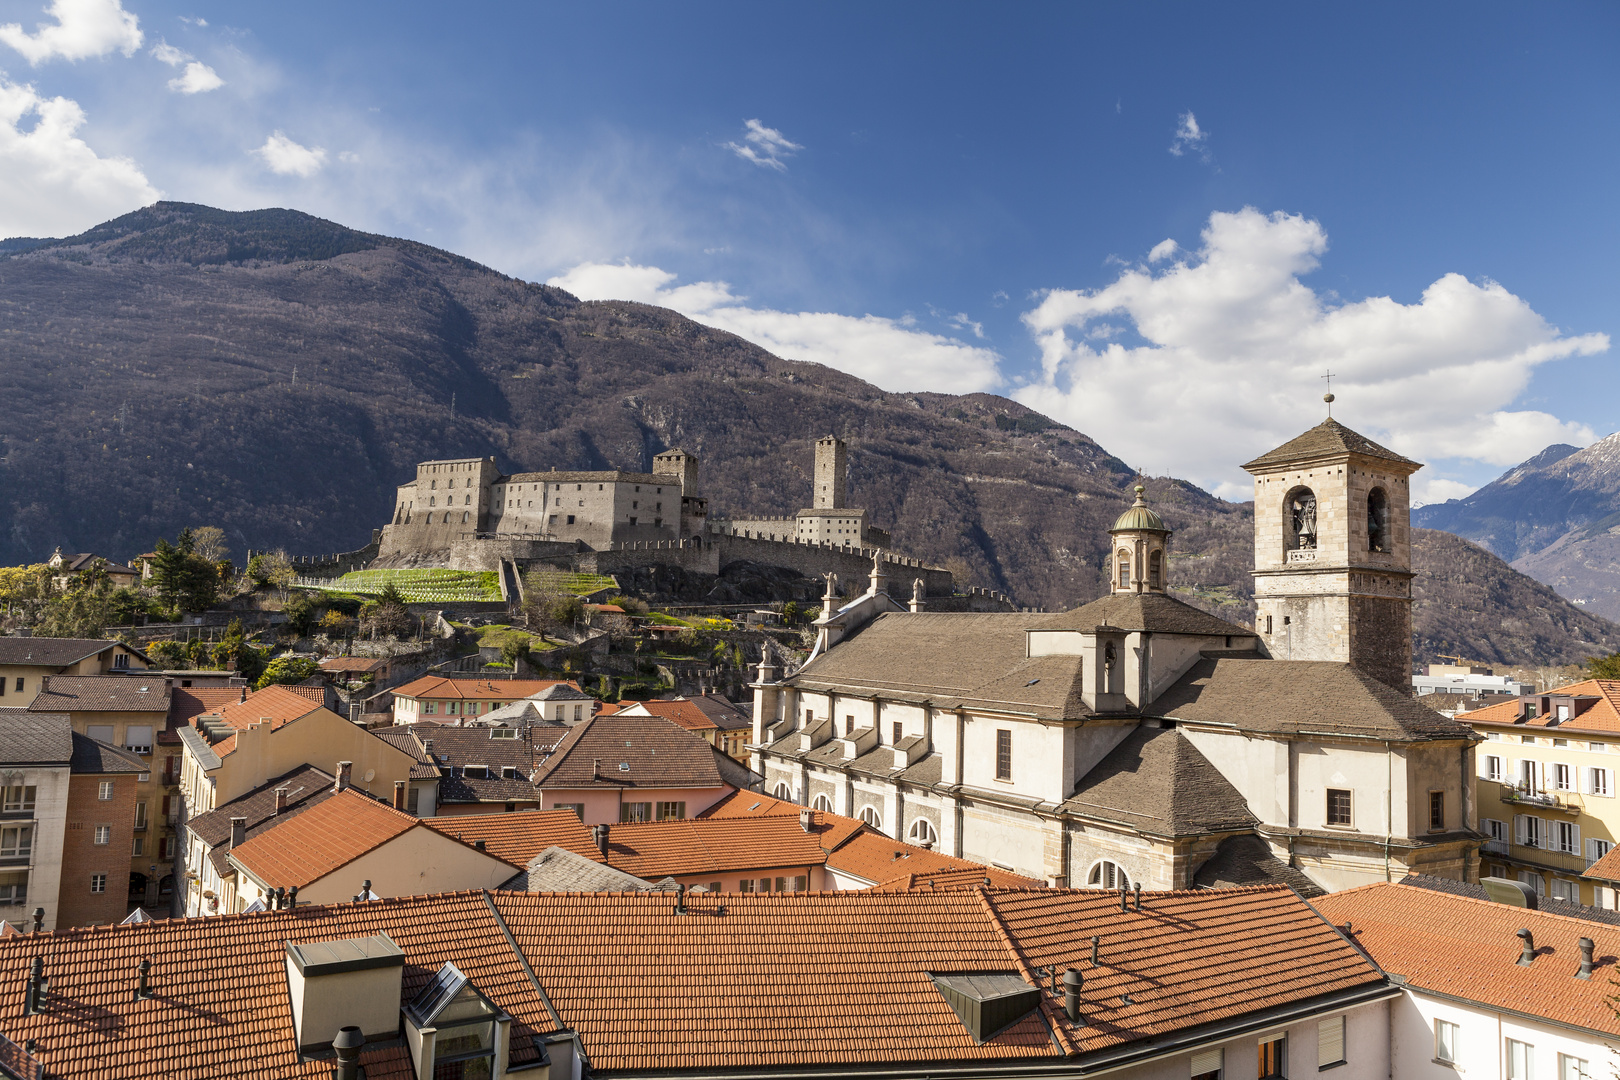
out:
<path id="1" fill-rule="evenodd" d="M 1409 988 L 1620 1036 L 1609 1004 L 1620 926 L 1383 882 L 1314 904 L 1333 923 L 1349 923 L 1351 939 Z M 1521 926 L 1536 944 L 1528 967 L 1518 963 Z M 1573 978 L 1581 965 L 1580 938 L 1597 946 L 1599 967 L 1589 980 Z"/>

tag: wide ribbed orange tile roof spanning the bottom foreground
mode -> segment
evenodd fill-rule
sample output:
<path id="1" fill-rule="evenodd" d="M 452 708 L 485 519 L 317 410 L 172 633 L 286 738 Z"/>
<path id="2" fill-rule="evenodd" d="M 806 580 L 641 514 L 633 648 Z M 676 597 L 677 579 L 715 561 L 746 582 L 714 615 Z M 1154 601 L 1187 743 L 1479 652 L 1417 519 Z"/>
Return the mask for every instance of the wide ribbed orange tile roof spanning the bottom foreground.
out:
<path id="1" fill-rule="evenodd" d="M 11 936 L 0 984 L 21 988 L 42 955 L 66 1007 L 24 1017 L 23 994 L 3 994 L 0 1031 L 39 1040 L 52 1075 L 326 1077 L 330 1059 L 301 1061 L 293 1046 L 285 942 L 376 933 L 405 952 L 403 999 L 450 960 L 514 1017 L 514 1052 L 528 1061 L 531 1036 L 557 1030 L 538 981 L 603 1074 L 1066 1057 L 1082 1069 L 1077 1054 L 1136 1041 L 1157 1052 L 1162 1036 L 1217 1020 L 1260 1025 L 1264 1009 L 1396 993 L 1286 887 L 1144 894 L 1142 912 L 1119 912 L 1108 892 L 993 889 L 697 895 L 687 912 L 667 894 L 460 892 Z M 156 996 L 131 1001 L 141 959 Z M 1035 980 L 1048 963 L 1084 970 L 1084 1027 L 1042 980 L 1040 1015 L 980 1044 L 930 978 Z M 411 1075 L 399 1044 L 368 1046 L 361 1062 L 374 1080 Z"/>

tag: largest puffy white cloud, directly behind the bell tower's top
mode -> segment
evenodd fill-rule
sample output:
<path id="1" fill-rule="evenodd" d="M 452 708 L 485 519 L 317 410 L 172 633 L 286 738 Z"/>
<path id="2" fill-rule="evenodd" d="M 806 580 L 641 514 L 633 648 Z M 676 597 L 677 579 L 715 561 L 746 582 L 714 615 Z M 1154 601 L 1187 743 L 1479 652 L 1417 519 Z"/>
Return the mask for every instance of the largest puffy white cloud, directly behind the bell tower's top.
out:
<path id="1" fill-rule="evenodd" d="M 1584 424 L 1511 405 L 1537 364 L 1601 353 L 1607 335 L 1565 337 L 1502 285 L 1460 274 L 1413 304 L 1333 304 L 1299 280 L 1325 251 L 1327 233 L 1299 215 L 1212 214 L 1202 248 L 1163 270 L 1045 293 L 1024 314 L 1042 377 L 1014 397 L 1132 463 L 1236 497 L 1249 491 L 1238 461 L 1322 419 L 1328 368 L 1335 416 L 1418 460 L 1502 466 L 1592 440 Z M 1094 343 L 1121 322 L 1144 343 Z"/>

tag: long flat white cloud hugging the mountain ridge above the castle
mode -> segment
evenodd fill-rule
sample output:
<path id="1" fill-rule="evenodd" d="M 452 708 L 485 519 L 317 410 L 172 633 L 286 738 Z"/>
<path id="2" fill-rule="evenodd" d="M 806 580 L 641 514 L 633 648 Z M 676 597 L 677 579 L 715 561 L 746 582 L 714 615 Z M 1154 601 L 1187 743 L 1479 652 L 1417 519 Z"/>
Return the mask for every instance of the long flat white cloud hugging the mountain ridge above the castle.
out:
<path id="1" fill-rule="evenodd" d="M 546 283 L 582 300 L 672 308 L 778 356 L 826 364 L 885 390 L 972 393 L 1001 382 L 1001 358 L 993 350 L 910 329 L 906 319 L 750 308 L 726 282 L 672 285 L 674 280 L 674 274 L 654 266 L 585 262 Z"/>

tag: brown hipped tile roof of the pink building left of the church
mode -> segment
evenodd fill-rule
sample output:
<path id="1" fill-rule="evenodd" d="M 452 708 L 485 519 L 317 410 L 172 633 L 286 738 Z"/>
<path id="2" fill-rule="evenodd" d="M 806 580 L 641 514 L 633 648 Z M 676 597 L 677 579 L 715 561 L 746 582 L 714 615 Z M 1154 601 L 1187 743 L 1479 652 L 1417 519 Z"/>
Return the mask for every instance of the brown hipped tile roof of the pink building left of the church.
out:
<path id="1" fill-rule="evenodd" d="M 575 725 L 551 756 L 539 763 L 538 785 L 562 790 L 727 787 L 721 759 L 735 766 L 706 742 L 669 721 L 616 712 L 593 716 Z"/>

